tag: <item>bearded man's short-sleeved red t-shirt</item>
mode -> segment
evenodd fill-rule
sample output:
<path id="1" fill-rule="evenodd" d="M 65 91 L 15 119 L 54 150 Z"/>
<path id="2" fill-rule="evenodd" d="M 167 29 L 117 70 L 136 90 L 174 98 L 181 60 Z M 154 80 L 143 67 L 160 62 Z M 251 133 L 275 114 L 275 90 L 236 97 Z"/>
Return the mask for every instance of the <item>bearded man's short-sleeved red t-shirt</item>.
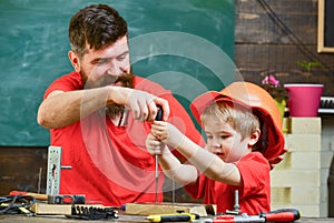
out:
<path id="1" fill-rule="evenodd" d="M 45 98 L 55 90 L 82 89 L 81 77 L 73 71 L 51 83 Z M 168 122 L 194 142 L 204 143 L 191 119 L 170 91 L 139 77 L 135 77 L 135 89 L 168 100 Z M 77 123 L 50 130 L 50 144 L 62 148 L 61 164 L 71 166 L 61 170 L 61 194 L 85 194 L 87 202 L 112 206 L 155 201 L 155 158 L 145 146 L 150 123 L 135 121 L 131 112 L 126 119 L 126 125 L 117 126 L 105 114 L 95 112 Z M 163 201 L 163 184 L 164 173 L 160 172 L 159 201 Z"/>

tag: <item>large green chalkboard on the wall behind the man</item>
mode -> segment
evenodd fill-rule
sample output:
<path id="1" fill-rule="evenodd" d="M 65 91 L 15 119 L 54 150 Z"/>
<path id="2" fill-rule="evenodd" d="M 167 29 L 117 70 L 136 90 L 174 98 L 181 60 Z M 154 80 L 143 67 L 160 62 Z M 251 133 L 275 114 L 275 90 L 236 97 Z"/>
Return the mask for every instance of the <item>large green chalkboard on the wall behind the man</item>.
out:
<path id="1" fill-rule="evenodd" d="M 234 79 L 233 0 L 1 0 L 0 145 L 49 144 L 38 105 L 50 82 L 72 70 L 68 22 L 90 3 L 120 12 L 134 72 L 175 91 L 186 108 Z"/>

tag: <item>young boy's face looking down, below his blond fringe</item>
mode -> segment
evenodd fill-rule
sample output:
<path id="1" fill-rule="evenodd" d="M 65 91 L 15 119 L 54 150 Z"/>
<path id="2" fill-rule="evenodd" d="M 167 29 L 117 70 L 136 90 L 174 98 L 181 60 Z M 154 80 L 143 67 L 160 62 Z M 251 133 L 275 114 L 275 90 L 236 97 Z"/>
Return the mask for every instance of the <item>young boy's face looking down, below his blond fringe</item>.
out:
<path id="1" fill-rule="evenodd" d="M 235 163 L 252 151 L 250 135 L 242 140 L 242 134 L 228 123 L 208 118 L 204 124 L 207 135 L 207 150 L 224 162 Z"/>

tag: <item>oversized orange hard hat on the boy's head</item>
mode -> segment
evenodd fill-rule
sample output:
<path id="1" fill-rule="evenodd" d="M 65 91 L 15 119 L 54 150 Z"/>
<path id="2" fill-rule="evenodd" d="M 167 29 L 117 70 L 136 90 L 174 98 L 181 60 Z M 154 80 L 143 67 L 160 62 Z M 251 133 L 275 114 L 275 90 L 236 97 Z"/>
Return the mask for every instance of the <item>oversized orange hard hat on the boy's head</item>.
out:
<path id="1" fill-rule="evenodd" d="M 278 159 L 285 150 L 282 131 L 282 116 L 272 95 L 257 84 L 250 82 L 233 82 L 222 91 L 209 91 L 197 97 L 190 104 L 195 119 L 200 123 L 204 109 L 218 101 L 242 105 L 258 116 L 261 122 L 261 151 L 271 161 Z"/>

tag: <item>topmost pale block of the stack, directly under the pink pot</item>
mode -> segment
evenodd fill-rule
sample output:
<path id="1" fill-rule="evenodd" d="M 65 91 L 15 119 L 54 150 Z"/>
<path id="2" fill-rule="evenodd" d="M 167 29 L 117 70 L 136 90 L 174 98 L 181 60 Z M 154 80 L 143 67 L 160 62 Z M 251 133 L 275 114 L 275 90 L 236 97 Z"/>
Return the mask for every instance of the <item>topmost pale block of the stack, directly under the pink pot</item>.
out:
<path id="1" fill-rule="evenodd" d="M 321 134 L 322 120 L 315 118 L 286 118 L 283 120 L 283 129 L 287 133 Z"/>

